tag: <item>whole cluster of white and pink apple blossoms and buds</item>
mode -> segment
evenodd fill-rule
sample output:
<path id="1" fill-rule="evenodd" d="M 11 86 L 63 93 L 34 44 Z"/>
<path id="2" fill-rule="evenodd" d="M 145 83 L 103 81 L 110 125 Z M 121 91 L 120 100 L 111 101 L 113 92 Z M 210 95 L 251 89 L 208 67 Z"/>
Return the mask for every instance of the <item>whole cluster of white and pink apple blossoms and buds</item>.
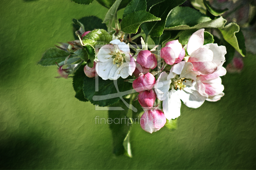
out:
<path id="1" fill-rule="evenodd" d="M 145 131 L 156 132 L 166 119 L 180 116 L 181 100 L 187 107 L 198 108 L 205 100 L 218 101 L 224 95 L 220 77 L 226 74 L 222 67 L 226 47 L 204 45 L 204 29 L 193 33 L 184 48 L 178 40 L 173 40 L 166 43 L 160 55 L 145 49 L 138 51 L 132 55 L 125 42 L 110 41 L 99 49 L 93 68 L 85 66 L 84 73 L 90 78 L 98 75 L 103 80 L 133 75 L 132 87 L 139 92 L 136 99 L 145 110 L 140 120 Z M 157 57 L 163 63 L 158 77 L 153 71 Z M 156 99 L 163 102 L 162 109 L 156 105 Z"/>

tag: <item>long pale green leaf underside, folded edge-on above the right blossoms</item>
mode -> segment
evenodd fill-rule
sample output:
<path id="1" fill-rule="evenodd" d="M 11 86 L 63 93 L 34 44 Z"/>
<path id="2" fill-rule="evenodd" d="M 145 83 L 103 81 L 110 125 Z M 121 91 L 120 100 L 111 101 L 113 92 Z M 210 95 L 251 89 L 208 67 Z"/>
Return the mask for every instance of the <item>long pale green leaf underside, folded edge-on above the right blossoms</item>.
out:
<path id="1" fill-rule="evenodd" d="M 201 29 L 201 28 L 222 28 L 226 24 L 227 20 L 220 17 L 211 21 L 202 22 L 195 26 L 180 25 L 164 28 L 164 30 L 186 30 L 186 29 Z"/>

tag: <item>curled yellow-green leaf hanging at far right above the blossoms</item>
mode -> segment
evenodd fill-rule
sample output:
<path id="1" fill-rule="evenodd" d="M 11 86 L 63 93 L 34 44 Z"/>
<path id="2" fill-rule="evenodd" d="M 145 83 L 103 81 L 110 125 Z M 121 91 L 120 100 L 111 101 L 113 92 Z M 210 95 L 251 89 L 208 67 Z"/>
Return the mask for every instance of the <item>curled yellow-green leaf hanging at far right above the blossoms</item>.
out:
<path id="1" fill-rule="evenodd" d="M 223 38 L 244 57 L 246 55 L 244 35 L 239 30 L 239 26 L 232 22 L 219 30 L 222 33 Z"/>

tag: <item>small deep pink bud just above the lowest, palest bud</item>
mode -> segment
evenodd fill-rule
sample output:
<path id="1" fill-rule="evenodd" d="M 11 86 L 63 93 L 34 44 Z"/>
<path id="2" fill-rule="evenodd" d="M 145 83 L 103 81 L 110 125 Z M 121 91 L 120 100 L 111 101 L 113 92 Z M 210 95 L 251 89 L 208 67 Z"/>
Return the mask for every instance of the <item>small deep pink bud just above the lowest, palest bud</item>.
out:
<path id="1" fill-rule="evenodd" d="M 139 103 L 142 107 L 153 107 L 156 100 L 156 94 L 154 90 L 145 90 L 139 94 Z"/>

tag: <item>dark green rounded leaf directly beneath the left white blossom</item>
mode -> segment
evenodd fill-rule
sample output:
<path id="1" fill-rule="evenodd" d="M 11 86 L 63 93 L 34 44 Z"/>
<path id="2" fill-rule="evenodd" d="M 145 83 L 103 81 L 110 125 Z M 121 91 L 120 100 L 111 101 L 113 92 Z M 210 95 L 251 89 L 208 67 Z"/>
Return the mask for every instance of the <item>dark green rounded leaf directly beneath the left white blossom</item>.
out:
<path id="1" fill-rule="evenodd" d="M 120 92 L 124 92 L 127 90 L 132 89 L 132 84 L 128 82 L 124 82 L 125 79 L 118 78 L 117 79 L 117 85 Z M 99 105 L 99 106 L 109 106 L 117 101 L 120 100 L 119 97 L 112 98 L 112 99 L 106 99 L 106 100 L 93 100 L 93 96 L 102 96 L 107 94 L 113 94 L 117 93 L 116 87 L 114 85 L 113 80 L 103 80 L 102 78 L 98 77 L 98 91 L 95 90 L 95 78 L 84 78 L 84 86 L 83 86 L 83 92 L 84 97 L 88 99 L 93 105 Z"/>

